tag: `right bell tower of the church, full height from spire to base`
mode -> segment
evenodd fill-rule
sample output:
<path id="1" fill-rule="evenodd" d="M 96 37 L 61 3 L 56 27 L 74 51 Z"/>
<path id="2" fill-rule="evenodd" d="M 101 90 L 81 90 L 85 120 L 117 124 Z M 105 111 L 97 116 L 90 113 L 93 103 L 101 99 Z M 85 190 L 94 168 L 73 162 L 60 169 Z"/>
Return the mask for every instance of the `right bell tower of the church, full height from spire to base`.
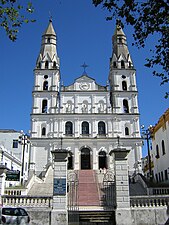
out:
<path id="1" fill-rule="evenodd" d="M 133 150 L 130 151 L 129 161 L 134 165 L 135 170 L 140 170 L 142 145 L 139 141 L 141 135 L 136 70 L 120 21 L 116 24 L 112 46 L 109 84 L 110 104 L 114 115 L 114 136 L 124 137 L 124 140 L 121 139 L 123 143 L 130 142 Z"/>

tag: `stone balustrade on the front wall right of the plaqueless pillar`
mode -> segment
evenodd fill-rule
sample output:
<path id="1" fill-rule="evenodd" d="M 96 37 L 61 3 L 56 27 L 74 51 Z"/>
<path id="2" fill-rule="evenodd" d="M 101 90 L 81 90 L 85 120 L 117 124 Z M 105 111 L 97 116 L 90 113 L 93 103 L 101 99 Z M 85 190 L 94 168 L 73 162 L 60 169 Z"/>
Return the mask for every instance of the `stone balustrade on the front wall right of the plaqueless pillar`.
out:
<path id="1" fill-rule="evenodd" d="M 132 196 L 130 198 L 131 207 L 160 207 L 169 205 L 168 196 Z"/>

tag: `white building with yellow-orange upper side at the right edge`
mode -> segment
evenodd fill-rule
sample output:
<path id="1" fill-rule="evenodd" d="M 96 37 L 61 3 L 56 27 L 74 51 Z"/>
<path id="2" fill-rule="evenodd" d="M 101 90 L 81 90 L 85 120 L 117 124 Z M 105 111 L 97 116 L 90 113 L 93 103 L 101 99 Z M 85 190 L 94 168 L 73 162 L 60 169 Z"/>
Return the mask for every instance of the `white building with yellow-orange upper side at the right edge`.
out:
<path id="1" fill-rule="evenodd" d="M 169 183 L 169 108 L 151 131 L 154 179 Z"/>

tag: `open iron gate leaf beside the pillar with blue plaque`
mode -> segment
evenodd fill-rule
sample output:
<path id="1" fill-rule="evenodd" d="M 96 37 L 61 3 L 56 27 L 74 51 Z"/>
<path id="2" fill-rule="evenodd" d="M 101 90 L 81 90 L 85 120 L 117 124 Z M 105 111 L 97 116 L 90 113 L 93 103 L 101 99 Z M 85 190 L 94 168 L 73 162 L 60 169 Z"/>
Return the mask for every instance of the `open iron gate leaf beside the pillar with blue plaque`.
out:
<path id="1" fill-rule="evenodd" d="M 77 171 L 68 171 L 67 185 L 68 185 L 68 194 L 67 194 L 68 224 L 79 225 Z"/>

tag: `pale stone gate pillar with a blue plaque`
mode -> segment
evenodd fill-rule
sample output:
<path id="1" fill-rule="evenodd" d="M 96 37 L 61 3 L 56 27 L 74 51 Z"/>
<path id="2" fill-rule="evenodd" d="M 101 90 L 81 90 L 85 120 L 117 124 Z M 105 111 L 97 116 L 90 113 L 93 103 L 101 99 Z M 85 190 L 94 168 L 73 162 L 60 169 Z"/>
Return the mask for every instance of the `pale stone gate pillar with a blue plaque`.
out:
<path id="1" fill-rule="evenodd" d="M 52 151 L 53 173 L 53 209 L 51 225 L 68 225 L 67 212 L 67 156 L 66 149 Z"/>

